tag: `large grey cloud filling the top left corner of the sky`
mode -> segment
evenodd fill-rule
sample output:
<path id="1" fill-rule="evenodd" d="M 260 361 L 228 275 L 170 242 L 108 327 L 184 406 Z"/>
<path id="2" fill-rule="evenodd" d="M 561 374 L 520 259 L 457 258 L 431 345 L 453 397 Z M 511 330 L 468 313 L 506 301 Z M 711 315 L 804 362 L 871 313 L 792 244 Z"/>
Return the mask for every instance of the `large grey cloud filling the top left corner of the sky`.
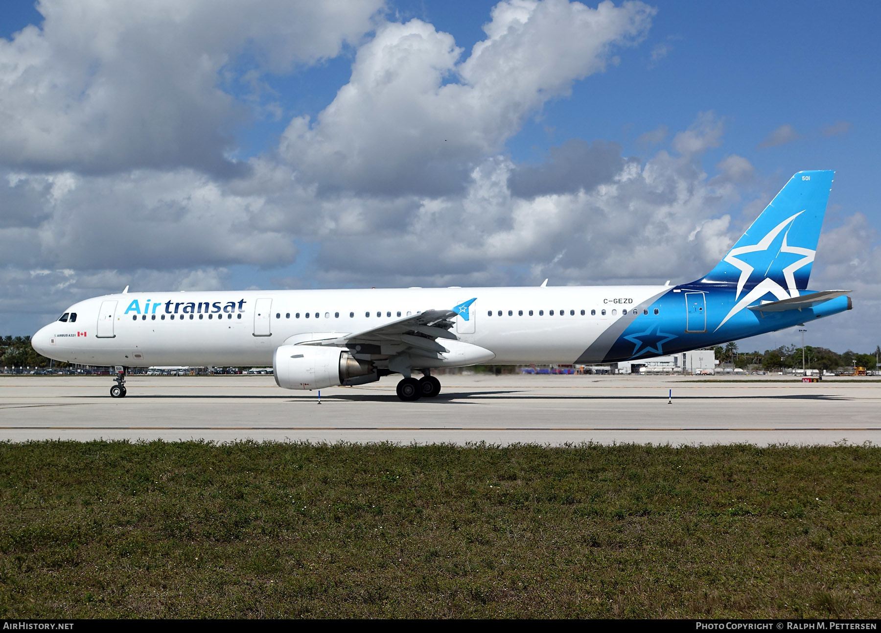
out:
<path id="1" fill-rule="evenodd" d="M 0 164 L 236 173 L 225 153 L 246 112 L 223 84 L 241 78 L 237 59 L 251 60 L 253 81 L 336 56 L 372 28 L 380 6 L 40 0 L 41 27 L 0 39 Z"/>

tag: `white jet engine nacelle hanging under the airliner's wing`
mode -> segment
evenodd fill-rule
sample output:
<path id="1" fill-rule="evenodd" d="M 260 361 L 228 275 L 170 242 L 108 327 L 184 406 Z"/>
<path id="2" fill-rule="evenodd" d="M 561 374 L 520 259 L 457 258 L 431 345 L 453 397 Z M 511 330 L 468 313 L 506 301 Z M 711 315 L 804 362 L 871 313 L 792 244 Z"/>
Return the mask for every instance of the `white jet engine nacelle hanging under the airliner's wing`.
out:
<path id="1" fill-rule="evenodd" d="M 323 389 L 380 379 L 372 362 L 359 361 L 342 347 L 280 346 L 272 355 L 272 372 L 283 389 Z"/>

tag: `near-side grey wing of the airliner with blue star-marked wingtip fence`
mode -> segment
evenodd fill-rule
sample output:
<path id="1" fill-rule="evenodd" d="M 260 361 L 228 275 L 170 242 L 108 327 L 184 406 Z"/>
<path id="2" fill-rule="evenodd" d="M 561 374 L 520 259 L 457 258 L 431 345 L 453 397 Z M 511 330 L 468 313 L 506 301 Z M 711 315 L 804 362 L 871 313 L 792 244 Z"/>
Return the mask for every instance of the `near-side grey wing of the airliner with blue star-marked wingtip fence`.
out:
<path id="1" fill-rule="evenodd" d="M 452 309 L 429 309 L 410 317 L 401 317 L 390 323 L 377 325 L 369 330 L 344 334 L 333 339 L 301 341 L 298 345 L 344 346 L 355 348 L 362 354 L 383 356 L 405 351 L 412 351 L 422 356 L 446 354 L 449 350 L 437 339 L 459 339 L 450 331 L 455 324 L 450 319 L 456 315 L 468 319 L 469 307 L 474 301 L 471 299 Z"/>

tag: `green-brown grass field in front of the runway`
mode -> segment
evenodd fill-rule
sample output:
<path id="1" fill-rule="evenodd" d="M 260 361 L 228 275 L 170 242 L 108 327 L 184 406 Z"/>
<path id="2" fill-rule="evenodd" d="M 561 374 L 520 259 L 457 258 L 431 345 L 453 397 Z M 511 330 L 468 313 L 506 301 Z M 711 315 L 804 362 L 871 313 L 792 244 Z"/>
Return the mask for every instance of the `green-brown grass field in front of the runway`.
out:
<path id="1" fill-rule="evenodd" d="M 0 443 L 0 617 L 878 617 L 881 449 Z"/>

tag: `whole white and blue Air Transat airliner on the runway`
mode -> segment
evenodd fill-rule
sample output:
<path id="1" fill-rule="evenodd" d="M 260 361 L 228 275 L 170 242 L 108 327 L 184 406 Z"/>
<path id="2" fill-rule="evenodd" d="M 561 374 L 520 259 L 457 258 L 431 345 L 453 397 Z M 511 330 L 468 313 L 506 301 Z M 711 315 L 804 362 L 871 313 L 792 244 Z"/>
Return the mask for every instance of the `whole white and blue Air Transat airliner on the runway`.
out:
<path id="1" fill-rule="evenodd" d="M 272 363 L 285 389 L 400 374 L 433 398 L 431 370 L 482 363 L 603 363 L 676 354 L 851 309 L 807 290 L 832 171 L 794 175 L 707 275 L 679 286 L 396 288 L 107 294 L 38 331 L 56 361 L 125 369 Z M 416 379 L 414 373 L 422 374 Z"/>

